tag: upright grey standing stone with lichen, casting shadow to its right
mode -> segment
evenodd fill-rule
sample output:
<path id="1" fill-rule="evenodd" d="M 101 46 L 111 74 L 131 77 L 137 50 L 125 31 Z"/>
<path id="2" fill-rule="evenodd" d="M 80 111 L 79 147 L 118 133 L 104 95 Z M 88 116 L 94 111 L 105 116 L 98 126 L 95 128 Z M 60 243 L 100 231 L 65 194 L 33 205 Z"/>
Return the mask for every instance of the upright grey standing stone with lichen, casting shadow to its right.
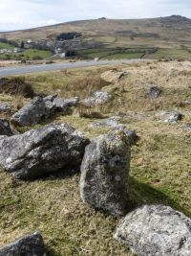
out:
<path id="1" fill-rule="evenodd" d="M 86 147 L 81 165 L 80 196 L 113 216 L 128 210 L 130 146 L 123 131 L 100 135 Z"/>

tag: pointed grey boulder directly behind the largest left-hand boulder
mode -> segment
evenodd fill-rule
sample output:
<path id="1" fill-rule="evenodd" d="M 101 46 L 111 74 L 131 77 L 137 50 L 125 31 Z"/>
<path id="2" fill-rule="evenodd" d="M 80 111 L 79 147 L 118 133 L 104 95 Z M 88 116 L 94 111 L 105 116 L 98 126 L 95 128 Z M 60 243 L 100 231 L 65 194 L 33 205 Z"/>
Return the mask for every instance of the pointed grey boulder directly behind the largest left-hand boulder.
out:
<path id="1" fill-rule="evenodd" d="M 43 98 L 35 97 L 29 105 L 23 106 L 11 117 L 14 126 L 29 127 L 39 124 L 45 116 L 45 103 Z"/>

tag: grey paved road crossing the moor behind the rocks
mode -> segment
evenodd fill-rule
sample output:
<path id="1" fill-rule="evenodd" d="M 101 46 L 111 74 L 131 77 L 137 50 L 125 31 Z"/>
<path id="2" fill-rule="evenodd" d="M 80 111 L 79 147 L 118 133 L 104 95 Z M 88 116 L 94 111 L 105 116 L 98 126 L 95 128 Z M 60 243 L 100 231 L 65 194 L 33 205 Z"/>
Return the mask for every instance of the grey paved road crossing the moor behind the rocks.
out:
<path id="1" fill-rule="evenodd" d="M 53 71 L 65 68 L 77 68 L 77 67 L 89 67 L 99 66 L 106 64 L 120 64 L 131 63 L 135 61 L 149 61 L 148 59 L 123 59 L 123 60 L 90 60 L 90 61 L 76 61 L 76 62 L 64 62 L 53 64 L 39 64 L 39 65 L 23 65 L 0 68 L 0 77 L 12 76 L 12 75 L 24 75 L 28 73 Z"/>

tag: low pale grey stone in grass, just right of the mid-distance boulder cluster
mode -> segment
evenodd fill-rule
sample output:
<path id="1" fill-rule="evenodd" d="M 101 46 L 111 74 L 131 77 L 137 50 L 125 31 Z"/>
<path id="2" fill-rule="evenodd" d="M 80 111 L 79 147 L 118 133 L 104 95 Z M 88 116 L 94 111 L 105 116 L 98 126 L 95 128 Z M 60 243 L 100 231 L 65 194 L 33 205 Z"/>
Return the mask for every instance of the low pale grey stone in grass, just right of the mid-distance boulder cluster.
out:
<path id="1" fill-rule="evenodd" d="M 112 95 L 106 91 L 96 91 L 93 96 L 84 99 L 80 102 L 82 105 L 94 107 L 95 105 L 102 105 L 108 103 L 112 99 Z"/>

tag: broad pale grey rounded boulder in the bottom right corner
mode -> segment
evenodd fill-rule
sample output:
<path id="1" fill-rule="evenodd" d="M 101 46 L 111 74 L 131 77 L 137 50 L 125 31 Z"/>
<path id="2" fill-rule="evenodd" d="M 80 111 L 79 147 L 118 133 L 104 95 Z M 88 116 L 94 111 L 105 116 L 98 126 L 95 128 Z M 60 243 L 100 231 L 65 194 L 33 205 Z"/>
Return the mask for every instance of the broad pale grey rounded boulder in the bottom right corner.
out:
<path id="1" fill-rule="evenodd" d="M 191 220 L 169 206 L 139 207 L 119 223 L 114 237 L 138 256 L 191 255 Z"/>

